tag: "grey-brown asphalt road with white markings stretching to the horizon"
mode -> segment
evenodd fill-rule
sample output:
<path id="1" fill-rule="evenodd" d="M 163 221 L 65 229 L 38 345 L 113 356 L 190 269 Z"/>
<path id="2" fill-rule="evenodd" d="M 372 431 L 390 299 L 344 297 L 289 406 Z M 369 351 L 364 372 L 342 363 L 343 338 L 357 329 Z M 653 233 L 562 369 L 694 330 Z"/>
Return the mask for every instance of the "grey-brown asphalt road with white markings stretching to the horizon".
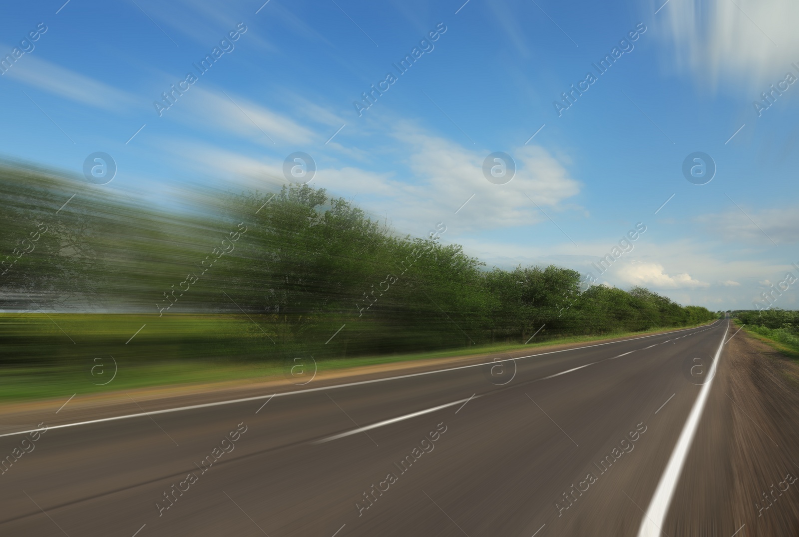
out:
<path id="1" fill-rule="evenodd" d="M 674 537 L 694 494 L 732 535 L 724 468 L 691 462 L 724 441 L 727 330 L 2 436 L 0 535 Z"/>

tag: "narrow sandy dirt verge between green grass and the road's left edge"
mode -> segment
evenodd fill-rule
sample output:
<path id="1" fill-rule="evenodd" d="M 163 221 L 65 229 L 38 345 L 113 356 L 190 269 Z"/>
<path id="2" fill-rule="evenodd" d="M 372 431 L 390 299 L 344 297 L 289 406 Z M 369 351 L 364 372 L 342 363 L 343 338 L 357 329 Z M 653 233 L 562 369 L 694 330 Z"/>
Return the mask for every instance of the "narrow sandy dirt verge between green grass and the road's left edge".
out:
<path id="1" fill-rule="evenodd" d="M 666 332 L 678 332 L 684 328 Z M 664 332 L 653 332 L 652 335 Z M 568 348 L 585 347 L 591 344 L 610 343 L 645 336 L 618 337 L 607 340 L 582 341 L 579 343 L 558 344 L 545 347 L 521 349 L 513 352 L 495 352 L 435 358 L 430 360 L 407 360 L 356 368 L 341 368 L 320 372 L 312 382 L 299 385 L 280 377 L 264 379 L 233 380 L 209 384 L 177 384 L 153 388 L 137 388 L 125 392 L 104 392 L 101 394 L 77 394 L 63 408 L 66 399 L 20 401 L 0 404 L 0 434 L 36 428 L 44 423 L 48 427 L 69 424 L 84 420 L 97 420 L 109 416 L 124 416 L 142 412 L 153 412 L 165 408 L 177 408 L 214 401 L 241 399 L 255 396 L 269 396 L 276 392 L 291 392 L 304 388 L 319 388 L 332 384 L 372 380 L 387 376 L 407 375 L 435 369 L 453 368 L 462 365 L 490 362 L 495 358 L 529 356 Z M 302 379 L 304 381 L 304 379 Z M 134 402 L 135 401 L 135 402 Z M 141 405 L 141 408 L 137 407 Z M 57 413 L 58 411 L 58 413 Z"/>

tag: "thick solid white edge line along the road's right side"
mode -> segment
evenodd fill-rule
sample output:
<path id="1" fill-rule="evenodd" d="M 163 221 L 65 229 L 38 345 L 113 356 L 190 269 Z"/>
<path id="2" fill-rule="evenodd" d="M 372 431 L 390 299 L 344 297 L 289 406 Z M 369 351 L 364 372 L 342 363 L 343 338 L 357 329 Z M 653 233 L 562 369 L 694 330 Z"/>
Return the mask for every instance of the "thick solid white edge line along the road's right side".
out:
<path id="1" fill-rule="evenodd" d="M 686 463 L 688 451 L 690 451 L 691 443 L 694 441 L 694 435 L 699 427 L 699 420 L 702 418 L 702 411 L 705 409 L 707 396 L 710 393 L 710 386 L 713 385 L 713 379 L 716 375 L 716 368 L 718 368 L 718 360 L 721 357 L 721 349 L 724 348 L 724 340 L 729 332 L 729 318 L 727 320 L 727 328 L 724 335 L 721 336 L 721 342 L 718 344 L 716 356 L 713 359 L 713 365 L 710 366 L 710 380 L 702 384 L 702 391 L 694 401 L 694 408 L 691 408 L 691 413 L 688 415 L 688 420 L 682 428 L 680 437 L 677 440 L 677 445 L 674 446 L 674 451 L 671 453 L 669 463 L 666 464 L 666 470 L 658 483 L 658 488 L 655 489 L 652 501 L 649 508 L 646 510 L 641 527 L 638 529 L 638 537 L 658 537 L 660 535 L 660 527 L 666 520 L 666 514 L 669 511 L 671 498 L 674 496 L 674 489 L 677 488 L 677 483 L 682 474 L 682 467 Z"/>

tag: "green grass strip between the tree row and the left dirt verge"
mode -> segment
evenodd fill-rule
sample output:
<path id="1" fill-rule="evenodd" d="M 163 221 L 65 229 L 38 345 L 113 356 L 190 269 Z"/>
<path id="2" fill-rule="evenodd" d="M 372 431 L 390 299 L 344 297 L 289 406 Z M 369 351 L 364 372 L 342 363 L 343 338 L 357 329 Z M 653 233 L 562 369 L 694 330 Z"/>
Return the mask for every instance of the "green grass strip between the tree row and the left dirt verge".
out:
<path id="1" fill-rule="evenodd" d="M 247 360 L 230 359 L 228 356 L 234 352 L 237 352 L 237 356 L 241 354 L 238 353 L 239 348 L 249 348 L 253 344 L 257 348 L 268 349 L 265 336 L 251 322 L 233 316 L 164 316 L 160 320 L 157 315 L 100 317 L 61 314 L 50 317 L 34 314 L 0 315 L 0 345 L 4 351 L 25 352 L 28 356 L 31 352 L 54 352 L 52 359 L 43 364 L 16 364 L 0 368 L 0 400 L 66 399 L 74 393 L 89 395 L 176 384 L 281 379 L 292 365 L 283 360 L 269 360 L 263 350 L 256 360 L 252 356 L 248 356 Z M 147 324 L 146 328 L 152 324 L 152 331 L 145 332 L 145 328 L 133 339 L 135 346 L 126 346 L 125 341 L 142 324 Z M 64 332 L 73 338 L 75 344 L 70 343 Z M 603 336 L 534 339 L 527 345 L 503 343 L 434 352 L 332 358 L 319 360 L 317 368 L 318 372 L 327 372 L 411 360 L 479 356 L 658 332 L 618 332 Z M 225 337 L 213 336 L 220 333 L 224 333 Z M 58 345 L 47 344 L 49 338 L 55 338 Z M 113 361 L 108 356 L 113 356 L 117 362 L 117 376 L 109 384 L 97 385 L 113 374 Z M 98 374 L 92 376 L 92 366 L 100 364 L 94 361 L 97 357 L 102 358 L 104 366 L 96 369 Z M 102 375 L 99 374 L 100 370 L 103 371 Z"/>

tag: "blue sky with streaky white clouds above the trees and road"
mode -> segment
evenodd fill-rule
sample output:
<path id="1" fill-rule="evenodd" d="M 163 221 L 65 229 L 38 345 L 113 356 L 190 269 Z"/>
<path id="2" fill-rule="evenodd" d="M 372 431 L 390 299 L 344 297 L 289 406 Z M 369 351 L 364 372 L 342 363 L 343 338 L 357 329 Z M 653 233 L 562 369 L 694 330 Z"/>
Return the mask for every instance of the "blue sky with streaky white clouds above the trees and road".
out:
<path id="1" fill-rule="evenodd" d="M 0 53 L 30 51 L 0 75 L 2 153 L 76 177 L 89 153 L 109 153 L 117 176 L 98 189 L 179 205 L 197 185 L 276 189 L 301 151 L 312 185 L 403 233 L 443 221 L 443 238 L 489 265 L 585 273 L 643 222 L 598 281 L 715 310 L 753 308 L 785 272 L 799 276 L 799 84 L 784 82 L 799 78 L 795 2 L 262 3 L 7 9 Z M 419 58 L 400 74 L 392 64 L 408 54 Z M 598 74 L 607 54 L 618 58 Z M 396 82 L 359 112 L 388 73 Z M 588 73 L 596 81 L 558 111 Z M 758 112 L 769 86 L 785 90 Z M 517 167 L 505 185 L 483 176 L 497 151 Z M 717 167 L 705 185 L 683 176 L 694 152 Z M 799 307 L 796 287 L 774 305 Z"/>

